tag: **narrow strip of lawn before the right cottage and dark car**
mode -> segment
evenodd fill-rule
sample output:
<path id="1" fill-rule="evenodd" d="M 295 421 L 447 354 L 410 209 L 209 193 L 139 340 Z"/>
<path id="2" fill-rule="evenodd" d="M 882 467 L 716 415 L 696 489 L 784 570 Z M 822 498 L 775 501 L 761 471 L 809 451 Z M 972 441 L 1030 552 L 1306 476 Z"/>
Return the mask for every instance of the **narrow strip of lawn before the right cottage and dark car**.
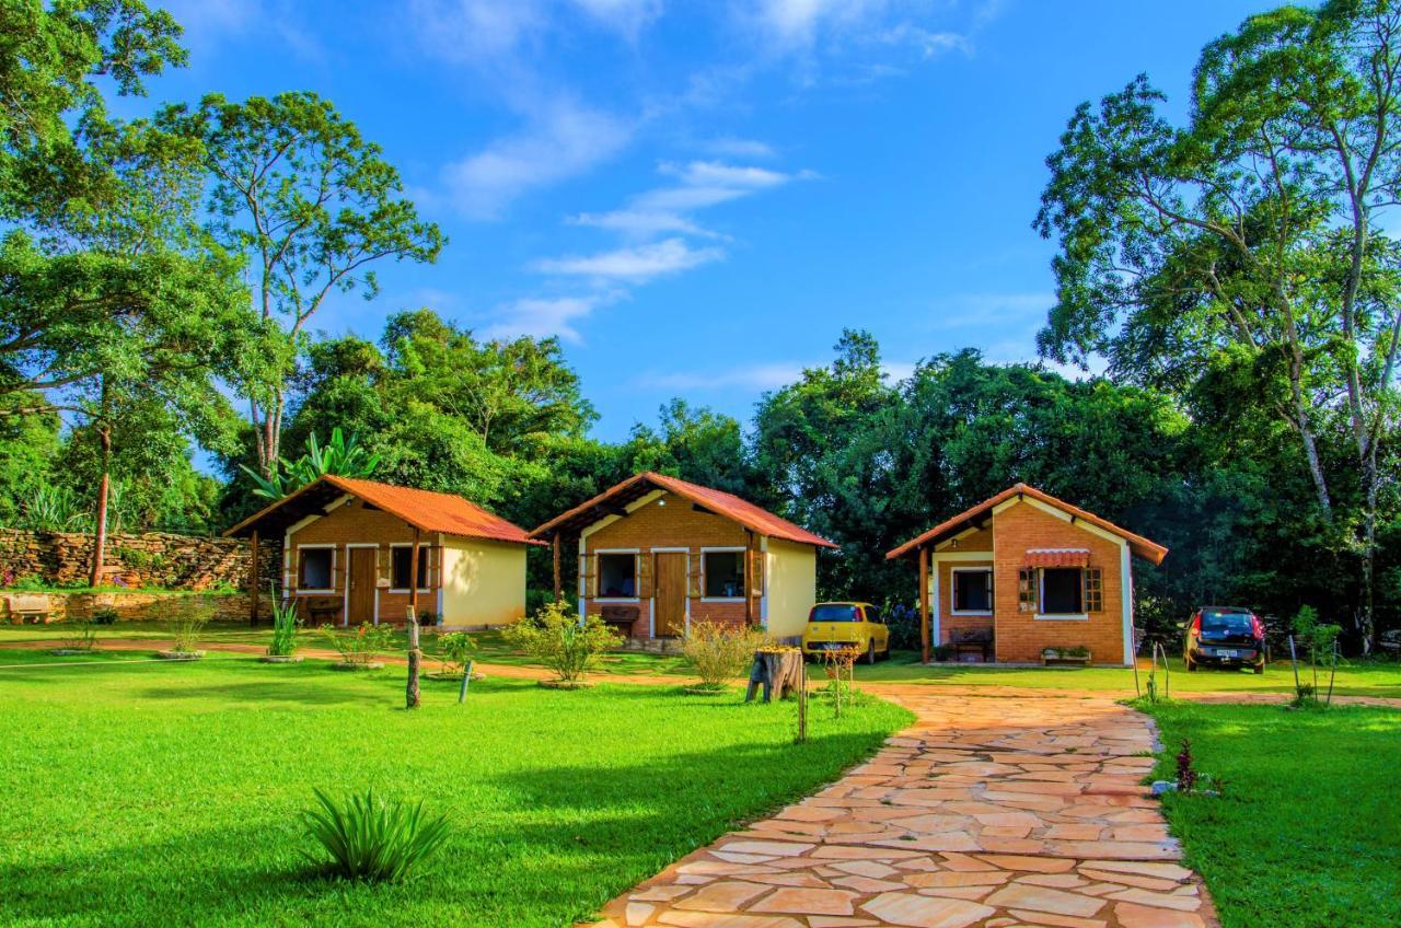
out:
<path id="1" fill-rule="evenodd" d="M 1302 673 L 1303 670 L 1300 670 Z M 1320 673 L 1324 687 L 1327 676 Z M 888 683 L 929 683 L 957 685 L 1045 687 L 1061 690 L 1110 690 L 1133 697 L 1133 671 L 1126 667 L 925 667 L 912 650 L 897 650 L 890 660 L 874 666 L 856 666 L 856 678 Z M 1147 678 L 1139 670 L 1140 685 Z M 1163 677 L 1159 676 L 1159 687 Z M 1288 662 L 1272 663 L 1265 673 L 1248 670 L 1201 669 L 1187 673 L 1180 657 L 1171 660 L 1174 692 L 1289 692 L 1295 691 L 1293 670 Z M 1338 667 L 1334 692 L 1339 695 L 1370 695 L 1401 698 L 1401 663 L 1358 663 Z"/>

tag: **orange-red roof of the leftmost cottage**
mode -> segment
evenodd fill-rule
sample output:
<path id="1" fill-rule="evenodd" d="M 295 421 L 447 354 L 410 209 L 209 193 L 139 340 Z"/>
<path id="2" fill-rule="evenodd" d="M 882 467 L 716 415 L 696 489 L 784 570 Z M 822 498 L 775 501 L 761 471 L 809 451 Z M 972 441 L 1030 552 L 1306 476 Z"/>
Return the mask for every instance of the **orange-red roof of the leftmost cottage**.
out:
<path id="1" fill-rule="evenodd" d="M 481 506 L 471 503 L 453 493 L 434 493 L 427 489 L 412 489 L 409 486 L 394 486 L 377 481 L 356 479 L 352 477 L 336 477 L 328 474 L 312 481 L 301 489 L 283 496 L 262 512 L 249 516 L 228 531 L 226 535 L 247 534 L 268 516 L 284 506 L 296 506 L 298 500 L 315 499 L 324 495 L 326 486 L 333 486 L 342 492 L 359 496 L 373 506 L 378 506 L 387 513 L 398 516 L 410 526 L 427 533 L 443 533 L 464 538 L 488 538 L 490 541 L 513 541 L 517 544 L 539 544 L 530 534 L 500 516 L 492 514 Z M 319 491 L 319 492 L 315 492 Z"/>

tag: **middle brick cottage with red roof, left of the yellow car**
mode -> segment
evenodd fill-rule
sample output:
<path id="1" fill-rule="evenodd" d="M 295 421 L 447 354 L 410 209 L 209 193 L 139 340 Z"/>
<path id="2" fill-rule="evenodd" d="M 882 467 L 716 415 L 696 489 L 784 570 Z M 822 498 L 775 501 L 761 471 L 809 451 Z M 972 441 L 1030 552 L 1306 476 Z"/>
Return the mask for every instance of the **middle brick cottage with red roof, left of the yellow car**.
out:
<path id="1" fill-rule="evenodd" d="M 797 638 L 817 601 L 817 548 L 836 547 L 733 493 L 650 472 L 531 537 L 552 541 L 556 558 L 577 538 L 580 614 L 635 639 L 675 638 L 698 621 Z"/>

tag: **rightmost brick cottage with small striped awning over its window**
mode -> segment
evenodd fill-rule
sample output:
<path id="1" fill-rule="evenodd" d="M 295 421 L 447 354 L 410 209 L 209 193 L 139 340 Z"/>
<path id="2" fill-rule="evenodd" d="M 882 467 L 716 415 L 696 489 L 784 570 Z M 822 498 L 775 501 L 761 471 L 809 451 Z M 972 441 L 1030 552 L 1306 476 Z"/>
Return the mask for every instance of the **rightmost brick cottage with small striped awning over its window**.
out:
<path id="1" fill-rule="evenodd" d="M 1167 548 L 1034 486 L 1017 484 L 934 526 L 887 558 L 919 559 L 929 645 L 969 643 L 999 663 L 1086 648 L 1096 664 L 1133 660 L 1133 557 Z"/>

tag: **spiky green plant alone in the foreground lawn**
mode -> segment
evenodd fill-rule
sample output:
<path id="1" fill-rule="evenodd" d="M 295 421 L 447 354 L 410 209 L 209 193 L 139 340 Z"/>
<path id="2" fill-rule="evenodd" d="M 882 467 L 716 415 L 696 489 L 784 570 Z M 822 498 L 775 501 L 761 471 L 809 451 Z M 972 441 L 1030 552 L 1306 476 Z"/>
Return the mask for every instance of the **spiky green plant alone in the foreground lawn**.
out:
<path id="1" fill-rule="evenodd" d="M 423 803 L 385 802 L 364 795 L 336 802 L 319 789 L 317 806 L 304 813 L 307 834 L 331 855 L 329 864 L 307 858 L 336 876 L 398 883 L 447 840 L 447 816 L 429 816 Z"/>

